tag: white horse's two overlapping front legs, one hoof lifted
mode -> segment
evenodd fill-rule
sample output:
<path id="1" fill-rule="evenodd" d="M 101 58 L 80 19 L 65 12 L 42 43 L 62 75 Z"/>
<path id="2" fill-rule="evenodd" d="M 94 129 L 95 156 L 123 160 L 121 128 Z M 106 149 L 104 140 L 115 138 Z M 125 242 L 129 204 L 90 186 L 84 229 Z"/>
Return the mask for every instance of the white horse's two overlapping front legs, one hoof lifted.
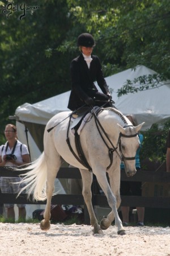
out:
<path id="1" fill-rule="evenodd" d="M 115 177 L 115 180 L 117 181 L 117 183 L 116 182 L 114 183 L 114 185 L 116 187 L 116 188 L 114 188 L 114 191 L 118 192 L 118 188 L 120 187 L 120 180 L 119 180 L 118 176 L 120 177 L 120 174 L 118 174 L 118 172 L 116 172 L 116 174 L 117 175 L 114 177 Z M 112 221 L 115 218 L 115 225 L 118 228 L 117 233 L 125 234 L 125 229 L 122 226 L 122 222 L 121 222 L 120 217 L 118 216 L 118 212 L 117 212 L 117 208 L 120 205 L 120 197 L 117 197 L 117 195 L 119 195 L 119 193 L 116 192 L 116 196 L 114 196 L 114 192 L 112 192 L 111 187 L 109 186 L 107 177 L 104 172 L 101 172 L 100 175 L 98 173 L 98 174 L 96 174 L 96 176 L 97 176 L 97 181 L 100 184 L 100 187 L 103 189 L 105 195 L 107 196 L 108 204 L 112 209 L 112 212 L 108 214 L 107 218 L 103 218 L 103 220 L 101 220 L 100 228 L 108 229 L 109 226 L 112 224 Z M 113 187 L 114 187 L 114 185 L 112 184 Z M 118 199 L 118 201 L 117 201 L 117 199 Z"/>

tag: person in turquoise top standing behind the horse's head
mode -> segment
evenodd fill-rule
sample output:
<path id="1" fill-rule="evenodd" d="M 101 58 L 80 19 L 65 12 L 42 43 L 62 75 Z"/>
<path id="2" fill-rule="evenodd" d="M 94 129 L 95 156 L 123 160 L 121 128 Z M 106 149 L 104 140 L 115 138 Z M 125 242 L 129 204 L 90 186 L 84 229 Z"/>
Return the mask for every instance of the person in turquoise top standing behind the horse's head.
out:
<path id="1" fill-rule="evenodd" d="M 126 115 L 130 122 L 137 126 L 137 121 L 133 117 L 133 115 Z M 138 133 L 139 141 L 140 141 L 140 147 L 137 150 L 137 154 L 135 156 L 135 167 L 137 171 L 141 170 L 140 166 L 140 159 L 139 159 L 139 152 L 141 150 L 142 142 L 143 142 L 143 135 L 141 133 Z M 121 169 L 124 170 L 124 164 L 121 163 Z M 141 182 L 134 182 L 134 181 L 121 181 L 120 185 L 120 194 L 121 196 L 142 196 L 142 183 Z M 121 207 L 122 212 L 122 219 L 123 219 L 123 225 L 128 226 L 129 225 L 129 207 Z M 137 226 L 144 226 L 144 215 L 145 215 L 145 208 L 144 207 L 137 207 L 137 213 L 138 213 L 138 224 Z"/>

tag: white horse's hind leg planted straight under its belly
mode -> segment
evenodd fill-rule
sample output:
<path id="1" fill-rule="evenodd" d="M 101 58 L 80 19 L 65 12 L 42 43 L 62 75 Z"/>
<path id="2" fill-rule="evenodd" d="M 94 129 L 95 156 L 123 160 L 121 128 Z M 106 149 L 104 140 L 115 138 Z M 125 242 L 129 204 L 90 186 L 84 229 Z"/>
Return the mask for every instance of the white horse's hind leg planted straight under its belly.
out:
<path id="1" fill-rule="evenodd" d="M 90 224 L 94 227 L 94 234 L 103 234 L 103 231 L 98 224 L 97 218 L 94 213 L 94 208 L 92 207 L 92 194 L 91 194 L 91 184 L 92 184 L 92 172 L 87 170 L 80 170 L 83 181 L 83 190 L 82 194 L 84 197 L 84 201 L 87 205 L 88 213 L 90 215 Z"/>

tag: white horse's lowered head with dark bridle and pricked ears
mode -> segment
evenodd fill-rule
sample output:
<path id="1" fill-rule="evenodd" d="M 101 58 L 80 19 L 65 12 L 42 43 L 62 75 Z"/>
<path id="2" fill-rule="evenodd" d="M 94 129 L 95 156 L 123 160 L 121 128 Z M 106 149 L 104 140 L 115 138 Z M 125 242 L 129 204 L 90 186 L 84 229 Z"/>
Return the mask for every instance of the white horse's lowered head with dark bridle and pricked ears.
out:
<path id="1" fill-rule="evenodd" d="M 120 130 L 119 137 L 119 149 L 122 157 L 122 161 L 125 165 L 125 172 L 128 177 L 133 176 L 136 173 L 135 168 L 135 155 L 137 153 L 137 149 L 140 146 L 138 131 L 141 129 L 142 125 L 145 122 L 141 123 L 141 125 L 133 126 L 133 125 L 125 125 L 122 127 L 118 125 Z"/>

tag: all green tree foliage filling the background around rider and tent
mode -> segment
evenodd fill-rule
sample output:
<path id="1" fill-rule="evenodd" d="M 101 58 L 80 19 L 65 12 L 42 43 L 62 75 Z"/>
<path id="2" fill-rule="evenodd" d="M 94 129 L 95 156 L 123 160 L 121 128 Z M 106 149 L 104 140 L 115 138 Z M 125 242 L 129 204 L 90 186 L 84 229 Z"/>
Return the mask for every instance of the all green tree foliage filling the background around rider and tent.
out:
<path id="1" fill-rule="evenodd" d="M 14 9 L 7 18 L 9 3 Z M 26 11 L 20 20 L 23 12 L 15 9 L 24 4 L 38 8 Z M 94 54 L 105 76 L 142 64 L 159 73 L 158 82 L 170 79 L 169 20 L 169 0 L 1 0 L 1 144 L 8 115 L 19 105 L 70 90 L 70 61 L 79 54 L 76 38 L 82 32 L 94 35 Z M 148 85 L 147 77 L 142 81 L 142 89 L 156 86 L 152 79 Z M 131 84 L 124 89 L 120 96 L 133 92 Z M 155 125 L 145 133 L 143 155 L 165 159 L 168 129 L 169 124 Z M 157 150 L 151 151 L 150 143 Z"/>

